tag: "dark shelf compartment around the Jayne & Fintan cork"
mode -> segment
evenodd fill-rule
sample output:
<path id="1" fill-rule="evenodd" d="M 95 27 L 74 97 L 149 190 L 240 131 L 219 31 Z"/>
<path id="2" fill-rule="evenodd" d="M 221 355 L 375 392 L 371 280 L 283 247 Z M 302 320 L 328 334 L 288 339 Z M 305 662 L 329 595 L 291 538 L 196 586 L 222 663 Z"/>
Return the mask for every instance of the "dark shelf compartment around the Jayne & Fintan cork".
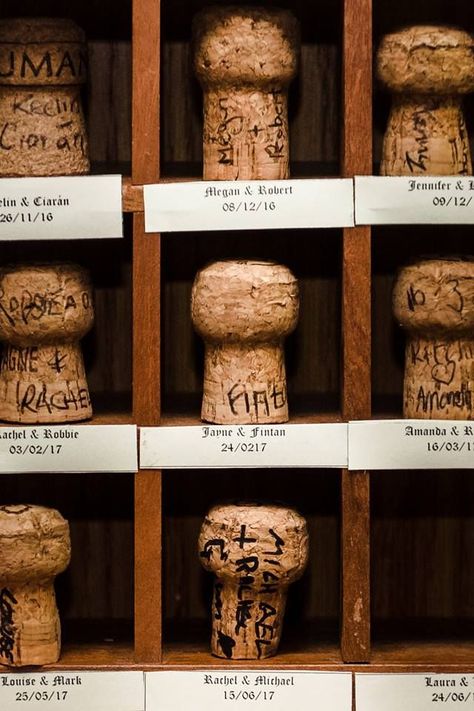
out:
<path id="1" fill-rule="evenodd" d="M 340 231 L 193 233 L 162 239 L 166 419 L 179 415 L 199 424 L 204 346 L 190 317 L 194 277 L 210 261 L 242 256 L 285 264 L 299 281 L 299 322 L 284 344 L 290 422 L 293 417 L 299 422 L 312 421 L 323 413 L 337 419 L 341 398 Z"/>

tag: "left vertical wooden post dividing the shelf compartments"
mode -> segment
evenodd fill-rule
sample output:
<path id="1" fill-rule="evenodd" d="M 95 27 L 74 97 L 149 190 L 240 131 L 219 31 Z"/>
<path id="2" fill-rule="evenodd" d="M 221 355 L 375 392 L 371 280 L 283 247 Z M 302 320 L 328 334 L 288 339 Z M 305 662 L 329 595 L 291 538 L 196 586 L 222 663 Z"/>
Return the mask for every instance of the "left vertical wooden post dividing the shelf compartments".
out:
<path id="1" fill-rule="evenodd" d="M 133 0 L 132 183 L 160 176 L 160 0 Z M 160 418 L 160 238 L 133 219 L 133 413 Z M 161 472 L 135 477 L 135 657 L 158 663 L 161 648 Z"/>

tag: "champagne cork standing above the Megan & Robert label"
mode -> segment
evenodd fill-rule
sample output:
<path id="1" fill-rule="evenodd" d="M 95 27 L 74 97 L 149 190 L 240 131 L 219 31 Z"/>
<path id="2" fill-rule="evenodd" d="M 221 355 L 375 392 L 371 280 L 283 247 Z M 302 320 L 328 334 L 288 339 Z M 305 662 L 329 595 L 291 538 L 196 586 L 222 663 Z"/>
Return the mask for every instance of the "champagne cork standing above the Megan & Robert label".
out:
<path id="1" fill-rule="evenodd" d="M 194 18 L 193 42 L 204 91 L 204 179 L 288 178 L 297 20 L 276 8 L 209 7 Z"/>

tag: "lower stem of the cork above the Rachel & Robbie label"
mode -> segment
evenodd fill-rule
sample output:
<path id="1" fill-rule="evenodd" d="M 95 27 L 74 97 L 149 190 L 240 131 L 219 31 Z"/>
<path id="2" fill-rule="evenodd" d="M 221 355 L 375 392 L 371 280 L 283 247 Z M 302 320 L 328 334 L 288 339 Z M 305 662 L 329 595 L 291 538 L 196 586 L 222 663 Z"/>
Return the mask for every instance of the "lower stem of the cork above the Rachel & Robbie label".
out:
<path id="1" fill-rule="evenodd" d="M 78 342 L 5 345 L 0 394 L 1 418 L 7 422 L 77 422 L 92 417 Z"/>

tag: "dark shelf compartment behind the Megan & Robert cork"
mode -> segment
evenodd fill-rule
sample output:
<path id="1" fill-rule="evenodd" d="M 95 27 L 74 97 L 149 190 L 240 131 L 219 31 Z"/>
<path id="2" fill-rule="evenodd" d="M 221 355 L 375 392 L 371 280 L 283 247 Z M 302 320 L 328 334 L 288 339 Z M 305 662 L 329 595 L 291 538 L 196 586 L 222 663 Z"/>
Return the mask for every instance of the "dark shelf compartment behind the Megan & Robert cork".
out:
<path id="1" fill-rule="evenodd" d="M 272 7 L 268 1 L 261 4 Z M 161 153 L 167 177 L 176 170 L 202 177 L 202 91 L 193 75 L 190 41 L 192 18 L 206 5 L 203 0 L 191 8 L 183 2 L 162 3 Z M 339 174 L 341 5 L 319 7 L 316 22 L 311 4 L 279 3 L 300 21 L 302 33 L 300 65 L 288 100 L 291 177 L 327 175 L 334 168 Z"/>

